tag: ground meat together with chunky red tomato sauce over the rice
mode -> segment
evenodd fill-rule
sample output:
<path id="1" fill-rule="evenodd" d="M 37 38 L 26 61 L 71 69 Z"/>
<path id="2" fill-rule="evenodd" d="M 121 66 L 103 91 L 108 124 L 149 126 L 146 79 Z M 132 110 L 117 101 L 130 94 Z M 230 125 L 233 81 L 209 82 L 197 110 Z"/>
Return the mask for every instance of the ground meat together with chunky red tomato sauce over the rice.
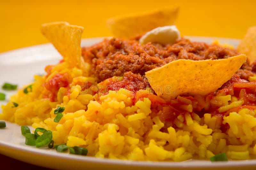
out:
<path id="1" fill-rule="evenodd" d="M 139 39 L 140 37 L 138 37 Z M 132 91 L 133 104 L 147 97 L 151 101 L 152 114 L 157 114 L 162 121 L 173 121 L 178 115 L 190 113 L 185 110 L 183 103 L 177 99 L 167 102 L 156 96 L 142 92 L 146 88 L 151 88 L 145 72 L 156 67 L 161 67 L 173 60 L 206 60 L 223 59 L 238 55 L 236 49 L 230 49 L 219 45 L 207 45 L 203 42 L 191 42 L 188 39 L 180 39 L 174 44 L 162 46 L 156 43 L 148 43 L 140 46 L 138 39 L 105 39 L 91 47 L 82 49 L 82 56 L 86 62 L 92 65 L 91 74 L 99 80 L 100 95 L 105 95 L 109 90 L 117 91 L 121 88 Z M 48 68 L 47 70 L 50 70 Z M 234 74 L 230 80 L 222 85 L 216 92 L 206 96 L 183 96 L 191 101 L 193 112 L 199 117 L 205 113 L 210 113 L 217 118 L 217 124 L 221 124 L 224 115 L 230 111 L 239 111 L 247 108 L 253 109 L 256 106 L 256 81 L 249 82 L 250 76 L 255 74 L 256 62 L 249 65 L 245 62 L 242 67 Z M 122 80 L 112 78 L 113 76 L 123 76 Z M 153 90 L 152 90 L 153 91 Z M 142 93 L 141 93 L 142 92 Z M 238 100 L 243 99 L 243 106 L 233 108 L 224 113 L 219 113 L 220 107 L 215 96 L 236 96 Z M 215 100 L 213 100 L 215 99 Z M 212 104 L 212 103 L 213 104 Z M 156 116 L 156 115 L 152 115 Z M 226 125 L 222 125 L 224 129 Z"/>

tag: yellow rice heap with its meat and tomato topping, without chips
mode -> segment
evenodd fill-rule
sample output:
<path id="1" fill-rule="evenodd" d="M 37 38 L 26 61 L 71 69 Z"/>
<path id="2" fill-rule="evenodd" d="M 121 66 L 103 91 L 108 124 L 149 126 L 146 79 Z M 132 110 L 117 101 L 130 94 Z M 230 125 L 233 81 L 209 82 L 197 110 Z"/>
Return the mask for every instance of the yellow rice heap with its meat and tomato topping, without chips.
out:
<path id="1" fill-rule="evenodd" d="M 35 75 L 2 106 L 0 119 L 52 131 L 54 144 L 88 149 L 88 155 L 129 160 L 229 159 L 256 155 L 256 76 L 247 62 L 208 95 L 158 97 L 145 72 L 173 60 L 223 59 L 236 49 L 178 40 L 162 46 L 138 39 L 105 39 L 82 49 L 86 69 L 61 60 Z M 12 102 L 19 103 L 12 107 Z M 65 107 L 54 122 L 54 110 Z"/>

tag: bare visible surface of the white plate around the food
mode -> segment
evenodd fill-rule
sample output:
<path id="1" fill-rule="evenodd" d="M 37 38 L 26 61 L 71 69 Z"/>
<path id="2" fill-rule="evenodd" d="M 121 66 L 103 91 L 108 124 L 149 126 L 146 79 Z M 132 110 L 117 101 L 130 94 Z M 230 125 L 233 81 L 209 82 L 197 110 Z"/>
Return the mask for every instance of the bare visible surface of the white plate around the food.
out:
<path id="1" fill-rule="evenodd" d="M 221 44 L 228 43 L 237 46 L 238 39 L 221 39 L 209 37 L 188 37 L 192 41 L 204 41 L 211 43 L 218 39 Z M 82 46 L 90 46 L 101 41 L 102 38 L 84 39 Z M 60 54 L 51 44 L 43 44 L 21 48 L 0 54 L 0 85 L 4 82 L 18 84 L 22 87 L 33 81 L 34 74 L 43 74 L 44 67 L 56 64 L 61 59 Z M 16 93 L 6 92 L 7 100 Z M 0 104 L 5 104 L 1 101 Z M 1 112 L 1 109 L 0 109 Z M 31 128 L 31 127 L 30 127 Z M 31 128 L 32 130 L 32 128 Z M 210 162 L 207 160 L 189 160 L 185 162 L 143 162 L 143 161 L 123 161 L 115 159 L 99 159 L 89 156 L 69 155 L 59 153 L 54 149 L 38 149 L 25 145 L 25 138 L 21 135 L 20 126 L 6 122 L 6 128 L 0 129 L 0 153 L 31 163 L 53 169 L 192 169 L 192 168 L 218 168 L 227 169 L 234 167 L 256 168 L 256 160 Z M 0 160 L 1 162 L 1 160 Z"/>

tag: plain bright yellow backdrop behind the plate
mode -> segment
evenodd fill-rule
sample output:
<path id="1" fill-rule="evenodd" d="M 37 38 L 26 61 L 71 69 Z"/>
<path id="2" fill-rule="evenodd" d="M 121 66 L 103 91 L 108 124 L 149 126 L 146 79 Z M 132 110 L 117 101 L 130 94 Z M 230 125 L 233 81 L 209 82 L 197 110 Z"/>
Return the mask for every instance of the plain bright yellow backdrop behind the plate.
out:
<path id="1" fill-rule="evenodd" d="M 176 25 L 182 35 L 242 38 L 256 25 L 255 0 L 0 0 L 0 52 L 48 42 L 42 23 L 67 21 L 83 26 L 83 38 L 110 36 L 106 19 L 180 4 Z"/>

